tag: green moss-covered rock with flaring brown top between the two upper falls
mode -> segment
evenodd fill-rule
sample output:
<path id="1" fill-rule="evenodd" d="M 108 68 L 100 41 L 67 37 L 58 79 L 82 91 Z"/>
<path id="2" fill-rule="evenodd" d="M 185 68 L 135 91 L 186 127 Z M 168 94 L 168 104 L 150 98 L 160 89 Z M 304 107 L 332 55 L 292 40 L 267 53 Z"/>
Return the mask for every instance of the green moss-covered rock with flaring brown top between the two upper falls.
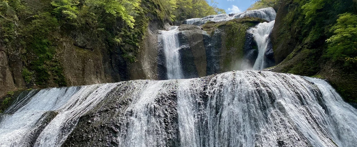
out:
<path id="1" fill-rule="evenodd" d="M 218 73 L 243 69 L 241 63 L 245 55 L 247 30 L 262 22 L 267 21 L 256 17 L 243 17 L 223 22 L 209 21 L 202 26 L 203 30 L 212 37 L 214 42 L 211 42 L 211 44 L 219 45 L 219 47 L 213 48 L 215 50 L 213 52 L 219 53 L 220 69 Z M 216 48 L 219 49 L 217 50 Z"/>

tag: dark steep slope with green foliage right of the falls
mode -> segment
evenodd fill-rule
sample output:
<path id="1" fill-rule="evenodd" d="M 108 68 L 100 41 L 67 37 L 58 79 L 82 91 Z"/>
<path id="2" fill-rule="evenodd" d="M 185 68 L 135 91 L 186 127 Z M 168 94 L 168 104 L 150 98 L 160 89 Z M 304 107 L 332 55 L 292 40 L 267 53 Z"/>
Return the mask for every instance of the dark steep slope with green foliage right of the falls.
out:
<path id="1" fill-rule="evenodd" d="M 275 58 L 293 50 L 273 71 L 325 77 L 356 103 L 356 10 L 352 0 L 282 0 L 272 33 Z"/>

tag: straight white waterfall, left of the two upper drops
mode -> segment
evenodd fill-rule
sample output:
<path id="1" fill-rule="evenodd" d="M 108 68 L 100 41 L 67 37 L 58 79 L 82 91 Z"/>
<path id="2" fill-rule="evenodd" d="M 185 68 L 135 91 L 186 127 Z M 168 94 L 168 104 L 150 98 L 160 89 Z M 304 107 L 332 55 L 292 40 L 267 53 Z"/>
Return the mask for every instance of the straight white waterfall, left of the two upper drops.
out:
<path id="1" fill-rule="evenodd" d="M 169 31 L 161 31 L 162 47 L 166 59 L 167 79 L 182 79 L 183 73 L 180 61 L 180 43 L 178 42 L 178 26 Z"/>

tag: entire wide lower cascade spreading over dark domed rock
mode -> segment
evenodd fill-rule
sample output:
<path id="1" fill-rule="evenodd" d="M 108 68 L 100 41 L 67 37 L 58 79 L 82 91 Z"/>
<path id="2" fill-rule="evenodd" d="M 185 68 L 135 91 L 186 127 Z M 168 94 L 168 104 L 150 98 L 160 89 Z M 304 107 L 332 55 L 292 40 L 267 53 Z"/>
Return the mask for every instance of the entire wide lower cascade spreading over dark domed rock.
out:
<path id="1" fill-rule="evenodd" d="M 356 147 L 357 110 L 321 79 L 237 71 L 31 91 L 0 146 Z"/>

